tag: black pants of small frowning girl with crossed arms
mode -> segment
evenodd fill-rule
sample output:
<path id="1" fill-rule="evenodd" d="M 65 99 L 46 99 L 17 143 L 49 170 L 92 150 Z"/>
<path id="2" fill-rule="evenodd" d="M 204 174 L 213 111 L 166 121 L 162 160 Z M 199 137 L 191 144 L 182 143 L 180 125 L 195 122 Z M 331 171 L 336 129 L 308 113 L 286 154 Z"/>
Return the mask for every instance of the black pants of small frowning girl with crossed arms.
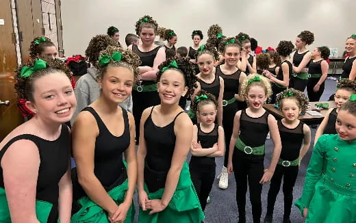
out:
<path id="1" fill-rule="evenodd" d="M 192 179 L 196 194 L 198 194 L 201 209 L 205 210 L 207 206 L 207 197 L 212 191 L 215 179 L 215 165 L 194 166 L 189 165 L 190 179 Z"/>

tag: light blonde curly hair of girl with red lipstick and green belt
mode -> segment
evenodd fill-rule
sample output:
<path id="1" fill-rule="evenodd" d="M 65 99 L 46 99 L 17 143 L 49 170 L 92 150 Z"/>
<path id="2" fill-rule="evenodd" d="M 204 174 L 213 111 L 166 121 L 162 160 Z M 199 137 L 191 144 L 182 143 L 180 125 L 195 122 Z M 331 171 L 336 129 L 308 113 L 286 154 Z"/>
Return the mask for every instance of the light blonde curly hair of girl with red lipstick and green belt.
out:
<path id="1" fill-rule="evenodd" d="M 261 81 L 253 81 L 249 83 L 249 80 L 254 79 L 255 77 L 259 77 Z M 251 74 L 247 76 L 247 78 L 244 80 L 241 86 L 241 95 L 247 99 L 247 94 L 249 93 L 249 90 L 251 87 L 254 86 L 259 86 L 264 89 L 264 92 L 266 93 L 267 98 L 269 98 L 272 95 L 272 88 L 270 86 L 270 81 L 262 75 L 257 75 L 257 74 Z"/>

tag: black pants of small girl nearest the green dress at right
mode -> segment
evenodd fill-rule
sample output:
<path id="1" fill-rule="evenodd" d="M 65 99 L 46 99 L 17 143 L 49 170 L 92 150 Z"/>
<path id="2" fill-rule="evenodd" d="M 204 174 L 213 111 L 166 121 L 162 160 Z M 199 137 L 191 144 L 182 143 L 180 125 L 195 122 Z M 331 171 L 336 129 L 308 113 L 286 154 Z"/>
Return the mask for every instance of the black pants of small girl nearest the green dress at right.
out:
<path id="1" fill-rule="evenodd" d="M 298 166 L 282 166 L 277 164 L 275 174 L 270 181 L 270 189 L 267 198 L 267 214 L 272 215 L 275 208 L 275 202 L 283 177 L 283 195 L 284 195 L 284 218 L 290 217 L 290 210 L 293 202 L 293 187 L 298 176 Z"/>

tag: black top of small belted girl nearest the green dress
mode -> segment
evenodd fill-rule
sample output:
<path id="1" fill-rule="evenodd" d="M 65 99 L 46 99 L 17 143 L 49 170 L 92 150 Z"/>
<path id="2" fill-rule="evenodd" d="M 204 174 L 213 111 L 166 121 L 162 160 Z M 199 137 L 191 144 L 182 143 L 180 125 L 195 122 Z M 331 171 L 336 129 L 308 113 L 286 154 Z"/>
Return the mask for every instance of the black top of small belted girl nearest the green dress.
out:
<path id="1" fill-rule="evenodd" d="M 299 157 L 302 142 L 304 139 L 303 125 L 299 124 L 294 129 L 285 127 L 282 120 L 277 120 L 279 135 L 281 136 L 282 150 L 280 158 L 283 160 L 294 161 Z"/>

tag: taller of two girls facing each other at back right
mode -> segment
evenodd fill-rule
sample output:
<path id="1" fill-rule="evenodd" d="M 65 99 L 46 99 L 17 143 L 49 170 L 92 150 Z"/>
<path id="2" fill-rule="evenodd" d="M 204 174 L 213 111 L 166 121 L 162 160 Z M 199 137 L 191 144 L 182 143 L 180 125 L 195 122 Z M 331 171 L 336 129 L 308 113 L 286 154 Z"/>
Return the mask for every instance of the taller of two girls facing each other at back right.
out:
<path id="1" fill-rule="evenodd" d="M 292 54 L 293 74 L 290 78 L 290 88 L 304 92 L 308 82 L 307 67 L 312 60 L 312 53 L 307 50 L 307 45 L 314 42 L 314 34 L 311 31 L 302 31 L 296 36 L 296 51 Z"/>

